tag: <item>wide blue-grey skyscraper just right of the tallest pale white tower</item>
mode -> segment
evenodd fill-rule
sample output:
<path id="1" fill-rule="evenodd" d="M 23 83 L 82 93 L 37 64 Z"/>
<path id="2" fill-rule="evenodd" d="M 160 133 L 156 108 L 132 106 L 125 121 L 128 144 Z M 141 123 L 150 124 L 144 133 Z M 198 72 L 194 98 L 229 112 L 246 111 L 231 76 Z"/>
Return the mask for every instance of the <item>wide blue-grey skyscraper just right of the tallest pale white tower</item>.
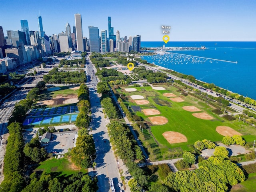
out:
<path id="1" fill-rule="evenodd" d="M 100 52 L 100 37 L 98 27 L 89 26 L 90 52 Z"/>

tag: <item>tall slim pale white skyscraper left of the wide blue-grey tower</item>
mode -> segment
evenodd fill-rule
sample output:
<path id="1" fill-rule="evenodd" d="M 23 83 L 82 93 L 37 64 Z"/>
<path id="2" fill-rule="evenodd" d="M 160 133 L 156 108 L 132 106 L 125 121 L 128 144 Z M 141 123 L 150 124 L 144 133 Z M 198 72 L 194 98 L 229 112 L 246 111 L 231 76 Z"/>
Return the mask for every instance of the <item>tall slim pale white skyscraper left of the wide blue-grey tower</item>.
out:
<path id="1" fill-rule="evenodd" d="M 82 16 L 81 14 L 75 14 L 76 22 L 76 46 L 78 51 L 84 52 L 84 40 L 82 31 Z"/>

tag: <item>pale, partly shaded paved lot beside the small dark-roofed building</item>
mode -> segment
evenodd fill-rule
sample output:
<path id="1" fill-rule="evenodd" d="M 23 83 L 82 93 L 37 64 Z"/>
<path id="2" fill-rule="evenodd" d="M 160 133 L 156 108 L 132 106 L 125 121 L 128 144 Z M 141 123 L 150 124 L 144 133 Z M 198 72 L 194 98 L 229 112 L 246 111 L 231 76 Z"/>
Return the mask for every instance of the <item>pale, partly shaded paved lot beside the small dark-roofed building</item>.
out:
<path id="1" fill-rule="evenodd" d="M 68 152 L 69 148 L 74 147 L 73 138 L 75 138 L 75 134 L 61 136 L 53 135 L 53 139 L 48 143 L 48 146 L 46 146 L 46 150 L 48 153 L 64 154 Z"/>

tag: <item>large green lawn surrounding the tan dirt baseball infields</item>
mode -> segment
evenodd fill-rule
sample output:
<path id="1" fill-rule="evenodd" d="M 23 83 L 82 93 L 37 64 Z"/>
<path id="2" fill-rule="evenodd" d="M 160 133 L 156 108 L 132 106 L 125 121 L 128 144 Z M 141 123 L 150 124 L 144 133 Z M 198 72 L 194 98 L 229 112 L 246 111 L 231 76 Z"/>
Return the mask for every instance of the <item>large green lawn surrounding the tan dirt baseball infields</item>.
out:
<path id="1" fill-rule="evenodd" d="M 170 86 L 163 86 L 166 90 L 153 90 L 151 87 L 134 87 L 137 89 L 136 92 L 126 92 L 124 87 L 118 89 L 118 92 L 125 94 L 129 98 L 129 102 L 126 102 L 130 107 L 139 106 L 141 110 L 148 108 L 158 109 L 160 115 L 152 116 L 164 116 L 168 118 L 168 123 L 164 125 L 151 125 L 151 132 L 158 142 L 161 152 L 164 153 L 168 148 L 182 148 L 184 151 L 191 150 L 191 145 L 194 144 L 197 140 L 208 139 L 214 142 L 221 141 L 224 136 L 218 134 L 215 131 L 217 126 L 229 126 L 238 132 L 241 132 L 244 135 L 256 135 L 255 128 L 243 124 L 242 122 L 233 121 L 228 122 L 221 118 L 220 116 L 211 112 L 212 108 L 205 104 L 204 102 L 199 101 L 196 98 L 191 96 L 183 97 L 184 102 L 173 102 L 168 97 L 163 96 L 164 93 L 173 93 L 177 96 L 181 96 L 180 92 L 177 92 L 176 88 Z M 132 88 L 129 86 L 129 88 Z M 131 95 L 142 95 L 150 103 L 146 105 L 137 105 L 135 102 L 132 102 L 132 99 L 129 97 Z M 192 116 L 194 112 L 188 112 L 182 109 L 183 106 L 196 106 L 201 110 L 201 112 L 206 112 L 214 119 L 212 120 L 202 120 Z M 150 122 L 147 116 L 141 111 L 136 111 L 138 116 L 141 116 L 144 121 Z M 169 144 L 167 140 L 162 136 L 166 131 L 175 131 L 184 134 L 188 138 L 188 142 L 178 143 L 178 144 Z M 147 131 L 146 131 L 147 132 Z M 246 137 L 246 136 L 245 136 Z M 248 136 L 250 140 L 251 136 Z M 166 148 L 166 146 L 168 148 Z"/>

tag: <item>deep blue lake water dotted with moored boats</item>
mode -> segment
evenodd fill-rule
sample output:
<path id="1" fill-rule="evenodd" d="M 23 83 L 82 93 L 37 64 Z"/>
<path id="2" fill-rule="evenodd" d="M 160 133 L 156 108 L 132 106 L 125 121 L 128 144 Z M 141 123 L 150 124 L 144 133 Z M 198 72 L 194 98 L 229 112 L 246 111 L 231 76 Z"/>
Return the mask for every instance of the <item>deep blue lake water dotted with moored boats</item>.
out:
<path id="1" fill-rule="evenodd" d="M 163 45 L 141 42 L 142 48 Z M 256 100 L 256 42 L 168 42 L 165 46 L 206 49 L 170 51 L 144 60 Z"/>

